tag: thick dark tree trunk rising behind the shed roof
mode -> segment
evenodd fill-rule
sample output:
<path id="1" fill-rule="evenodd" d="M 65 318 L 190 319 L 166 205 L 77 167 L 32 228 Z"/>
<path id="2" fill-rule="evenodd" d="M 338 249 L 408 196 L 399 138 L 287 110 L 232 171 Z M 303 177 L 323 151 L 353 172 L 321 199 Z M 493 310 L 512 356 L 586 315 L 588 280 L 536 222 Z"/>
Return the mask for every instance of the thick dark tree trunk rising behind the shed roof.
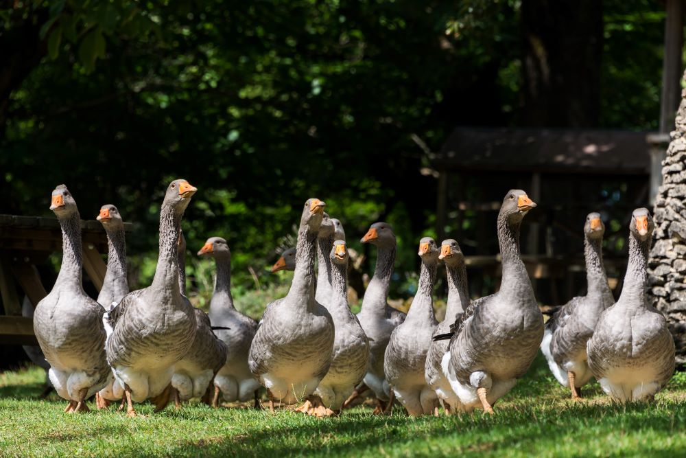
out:
<path id="1" fill-rule="evenodd" d="M 521 27 L 521 124 L 598 126 L 602 1 L 523 0 Z"/>

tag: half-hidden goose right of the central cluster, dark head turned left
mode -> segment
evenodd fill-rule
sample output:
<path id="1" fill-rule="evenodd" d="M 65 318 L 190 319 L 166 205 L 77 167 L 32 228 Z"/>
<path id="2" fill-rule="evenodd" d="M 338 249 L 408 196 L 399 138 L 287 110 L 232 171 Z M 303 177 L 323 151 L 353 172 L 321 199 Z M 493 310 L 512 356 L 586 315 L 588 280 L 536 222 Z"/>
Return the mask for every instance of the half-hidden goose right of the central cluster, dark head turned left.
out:
<path id="1" fill-rule="evenodd" d="M 387 222 L 372 224 L 361 240 L 377 247 L 377 262 L 374 275 L 364 292 L 362 309 L 357 314 L 359 324 L 369 339 L 369 362 L 364 375 L 364 385 L 357 387 L 346 405 L 367 387 L 374 391 L 379 407 L 375 413 L 383 413 L 392 404 L 394 396 L 386 376 L 383 374 L 383 358 L 390 334 L 397 325 L 405 321 L 405 314 L 388 305 L 388 288 L 393 275 L 396 240 L 392 227 Z"/>

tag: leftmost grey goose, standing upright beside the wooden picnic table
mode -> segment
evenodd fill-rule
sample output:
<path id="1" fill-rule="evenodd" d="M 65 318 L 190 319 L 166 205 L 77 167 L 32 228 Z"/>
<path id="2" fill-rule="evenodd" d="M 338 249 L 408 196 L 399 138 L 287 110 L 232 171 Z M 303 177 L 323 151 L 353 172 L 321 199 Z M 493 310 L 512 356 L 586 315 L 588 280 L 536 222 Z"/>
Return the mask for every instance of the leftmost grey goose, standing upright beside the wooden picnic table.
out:
<path id="1" fill-rule="evenodd" d="M 87 412 L 86 398 L 112 374 L 105 356 L 103 309 L 84 292 L 81 218 L 67 186 L 52 192 L 50 209 L 62 227 L 62 266 L 52 290 L 36 305 L 34 332 L 50 364 L 50 382 L 69 401 L 64 411 Z"/>

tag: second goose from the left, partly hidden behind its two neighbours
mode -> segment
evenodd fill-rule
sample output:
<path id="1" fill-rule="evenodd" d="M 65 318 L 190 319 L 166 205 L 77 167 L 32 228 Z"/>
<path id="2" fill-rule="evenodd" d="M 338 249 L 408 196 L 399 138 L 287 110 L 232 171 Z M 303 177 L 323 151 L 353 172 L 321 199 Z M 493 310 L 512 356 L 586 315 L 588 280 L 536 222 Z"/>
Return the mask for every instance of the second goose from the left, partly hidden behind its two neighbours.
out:
<path id="1" fill-rule="evenodd" d="M 103 323 L 106 333 L 111 334 L 112 328 L 107 324 L 110 311 L 129 292 L 126 271 L 126 234 L 119 209 L 114 205 L 100 207 L 100 212 L 95 219 L 102 224 L 107 235 L 107 271 L 97 296 L 97 303 L 105 310 Z M 122 400 L 123 393 L 123 387 L 115 378 L 112 378 L 106 387 L 95 393 L 95 404 L 98 409 L 104 409 L 108 407 L 110 401 Z"/>

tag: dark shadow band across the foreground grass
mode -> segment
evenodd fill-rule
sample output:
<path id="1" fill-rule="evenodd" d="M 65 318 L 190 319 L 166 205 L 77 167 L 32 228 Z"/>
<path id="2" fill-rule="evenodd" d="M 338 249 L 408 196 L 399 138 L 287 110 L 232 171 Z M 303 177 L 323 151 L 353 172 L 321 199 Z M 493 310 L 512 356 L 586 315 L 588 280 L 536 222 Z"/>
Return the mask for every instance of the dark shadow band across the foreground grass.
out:
<path id="1" fill-rule="evenodd" d="M 411 455 L 422 454 L 421 450 L 429 453 L 434 446 L 445 448 L 444 453 L 506 452 L 510 448 L 555 450 L 560 441 L 588 442 L 589 434 L 601 438 L 616 434 L 619 438 L 646 429 L 667 436 L 681 434 L 686 426 L 686 406 L 677 402 L 663 402 L 659 406 L 578 402 L 560 409 L 541 409 L 540 405 L 508 407 L 494 417 L 475 413 L 408 419 L 401 415 L 377 417 L 355 413 L 314 420 L 296 413 L 281 413 L 272 420 L 267 415 L 255 420 L 255 426 L 247 433 L 185 442 L 171 450 L 171 455 L 368 455 L 382 453 L 382 448 L 397 452 L 398 446 L 407 446 L 403 453 Z M 412 450 L 417 446 L 420 448 Z M 673 454 L 669 447 L 664 441 L 646 443 L 641 445 L 641 452 Z M 576 456 L 589 453 L 591 450 L 578 450 Z"/>

